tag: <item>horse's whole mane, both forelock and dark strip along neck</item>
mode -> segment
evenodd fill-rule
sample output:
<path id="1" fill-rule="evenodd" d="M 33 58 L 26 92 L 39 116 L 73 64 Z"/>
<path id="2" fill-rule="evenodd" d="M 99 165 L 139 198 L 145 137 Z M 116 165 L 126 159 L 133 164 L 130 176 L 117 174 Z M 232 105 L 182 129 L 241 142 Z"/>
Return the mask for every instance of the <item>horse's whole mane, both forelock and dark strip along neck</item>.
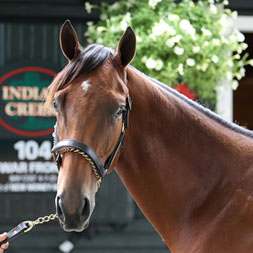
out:
<path id="1" fill-rule="evenodd" d="M 110 56 L 113 55 L 113 50 L 105 47 L 103 45 L 98 44 L 92 44 L 88 46 L 85 50 L 83 50 L 76 58 L 71 60 L 64 68 L 63 70 L 58 73 L 58 75 L 55 77 L 51 85 L 49 86 L 49 92 L 46 100 L 46 107 L 51 105 L 54 94 L 58 90 L 61 90 L 65 87 L 67 87 L 73 80 L 78 78 L 80 75 L 89 73 L 95 68 L 101 66 Z M 130 66 L 132 69 L 140 73 L 142 76 L 149 79 L 154 85 L 158 86 L 162 90 L 172 93 L 174 96 L 180 98 L 190 106 L 194 107 L 198 111 L 204 113 L 209 118 L 217 121 L 221 125 L 237 132 L 240 134 L 243 134 L 245 136 L 253 138 L 253 131 L 250 131 L 244 127 L 238 126 L 235 123 L 229 122 L 227 120 L 224 120 L 221 116 L 218 114 L 212 112 L 210 109 L 205 108 L 204 106 L 188 99 L 186 96 L 180 94 L 175 89 L 172 89 L 171 87 L 167 86 L 166 84 L 151 78 L 138 69 Z"/>

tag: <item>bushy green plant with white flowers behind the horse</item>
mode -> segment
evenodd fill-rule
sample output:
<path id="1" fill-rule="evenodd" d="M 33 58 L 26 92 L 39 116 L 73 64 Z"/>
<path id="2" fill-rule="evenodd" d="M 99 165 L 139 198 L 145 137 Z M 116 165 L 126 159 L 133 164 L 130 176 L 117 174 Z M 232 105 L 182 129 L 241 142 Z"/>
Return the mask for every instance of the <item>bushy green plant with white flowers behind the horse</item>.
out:
<path id="1" fill-rule="evenodd" d="M 232 27 L 236 12 L 228 2 L 203 0 L 119 0 L 112 5 L 86 3 L 100 10 L 100 21 L 88 22 L 89 43 L 116 48 L 127 26 L 137 37 L 132 65 L 170 86 L 187 83 L 200 99 L 215 101 L 216 88 L 229 81 L 233 89 L 253 64 L 243 51 L 244 35 Z"/>

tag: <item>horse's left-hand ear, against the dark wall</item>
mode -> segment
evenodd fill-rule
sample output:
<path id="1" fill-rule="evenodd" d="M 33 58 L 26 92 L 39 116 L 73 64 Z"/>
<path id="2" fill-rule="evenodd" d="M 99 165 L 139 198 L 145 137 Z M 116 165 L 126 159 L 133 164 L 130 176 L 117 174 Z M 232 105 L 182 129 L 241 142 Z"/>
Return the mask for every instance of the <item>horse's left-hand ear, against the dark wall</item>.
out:
<path id="1" fill-rule="evenodd" d="M 64 56 L 71 61 L 81 52 L 81 45 L 75 29 L 69 20 L 66 20 L 60 31 L 60 46 Z"/>

